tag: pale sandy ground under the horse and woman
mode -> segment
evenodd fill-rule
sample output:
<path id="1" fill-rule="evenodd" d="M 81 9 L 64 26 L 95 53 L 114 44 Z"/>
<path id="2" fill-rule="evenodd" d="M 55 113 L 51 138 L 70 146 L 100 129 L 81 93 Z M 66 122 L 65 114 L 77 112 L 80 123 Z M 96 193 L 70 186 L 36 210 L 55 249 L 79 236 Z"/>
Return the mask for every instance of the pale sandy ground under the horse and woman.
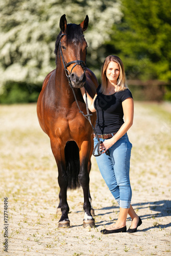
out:
<path id="1" fill-rule="evenodd" d="M 135 102 L 132 205 L 143 224 L 134 234 L 102 235 L 119 208 L 92 157 L 90 190 L 95 228 L 83 228 L 82 189 L 68 191 L 71 228 L 58 229 L 59 186 L 49 138 L 36 105 L 0 106 L 1 255 L 171 255 L 171 108 Z M 4 251 L 8 198 L 8 252 Z M 127 228 L 131 219 L 127 218 Z"/>

